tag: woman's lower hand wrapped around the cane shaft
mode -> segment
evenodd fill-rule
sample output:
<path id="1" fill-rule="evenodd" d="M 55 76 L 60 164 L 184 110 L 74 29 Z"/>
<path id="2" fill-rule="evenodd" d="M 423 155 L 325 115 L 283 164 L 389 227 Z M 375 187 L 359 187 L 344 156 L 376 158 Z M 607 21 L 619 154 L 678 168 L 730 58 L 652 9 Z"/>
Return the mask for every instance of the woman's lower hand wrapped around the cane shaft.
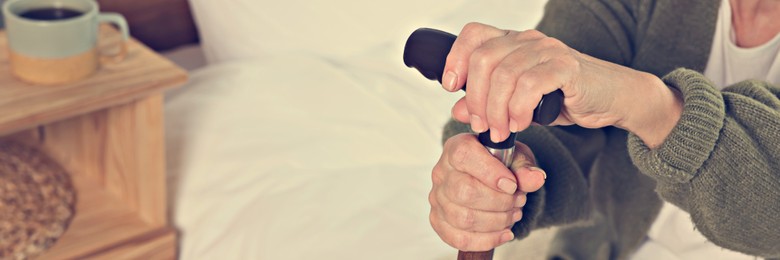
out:
<path id="1" fill-rule="evenodd" d="M 461 251 L 486 251 L 514 238 L 526 193 L 546 178 L 528 146 L 516 142 L 512 169 L 488 153 L 477 137 L 460 134 L 444 144 L 433 168 L 430 221 L 444 242 Z"/>

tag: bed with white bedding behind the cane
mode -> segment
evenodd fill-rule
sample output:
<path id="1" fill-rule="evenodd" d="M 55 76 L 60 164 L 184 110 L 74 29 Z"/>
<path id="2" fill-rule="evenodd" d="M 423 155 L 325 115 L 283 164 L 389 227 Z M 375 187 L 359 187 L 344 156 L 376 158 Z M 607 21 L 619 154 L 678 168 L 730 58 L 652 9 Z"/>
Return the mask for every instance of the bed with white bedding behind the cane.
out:
<path id="1" fill-rule="evenodd" d="M 179 256 L 455 259 L 430 228 L 427 194 L 460 94 L 405 68 L 403 43 L 423 26 L 532 28 L 543 5 L 191 0 L 197 26 L 186 12 L 153 16 L 179 21 L 171 28 L 136 11 L 147 18 L 133 18 L 146 23 L 134 31 L 171 35 L 142 40 L 191 70 L 166 97 Z M 551 232 L 502 246 L 496 259 L 541 258 Z"/>

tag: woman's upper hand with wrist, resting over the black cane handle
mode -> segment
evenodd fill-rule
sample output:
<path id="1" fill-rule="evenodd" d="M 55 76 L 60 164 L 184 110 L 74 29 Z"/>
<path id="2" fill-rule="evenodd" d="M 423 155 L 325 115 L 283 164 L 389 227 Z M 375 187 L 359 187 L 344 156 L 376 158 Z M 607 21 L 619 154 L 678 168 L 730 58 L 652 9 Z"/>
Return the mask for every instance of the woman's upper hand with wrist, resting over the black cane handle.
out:
<path id="1" fill-rule="evenodd" d="M 671 132 L 682 110 L 674 93 L 652 74 L 582 54 L 536 30 L 479 23 L 461 31 L 442 83 L 449 91 L 467 85 L 453 117 L 471 123 L 475 132 L 490 130 L 495 142 L 527 128 L 542 95 L 557 89 L 564 102 L 553 125 L 614 125 L 651 147 Z"/>

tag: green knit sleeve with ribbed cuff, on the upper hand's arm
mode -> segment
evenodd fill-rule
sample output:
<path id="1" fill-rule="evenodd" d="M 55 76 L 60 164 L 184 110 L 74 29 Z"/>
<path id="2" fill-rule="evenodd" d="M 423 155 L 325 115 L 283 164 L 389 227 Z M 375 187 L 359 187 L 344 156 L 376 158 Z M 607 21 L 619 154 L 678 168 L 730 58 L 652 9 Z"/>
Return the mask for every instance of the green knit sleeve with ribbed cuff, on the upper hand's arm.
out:
<path id="1" fill-rule="evenodd" d="M 683 113 L 657 149 L 629 136 L 634 164 L 714 244 L 780 257 L 780 88 L 744 81 L 718 91 L 687 69 L 663 80 L 682 93 Z"/>

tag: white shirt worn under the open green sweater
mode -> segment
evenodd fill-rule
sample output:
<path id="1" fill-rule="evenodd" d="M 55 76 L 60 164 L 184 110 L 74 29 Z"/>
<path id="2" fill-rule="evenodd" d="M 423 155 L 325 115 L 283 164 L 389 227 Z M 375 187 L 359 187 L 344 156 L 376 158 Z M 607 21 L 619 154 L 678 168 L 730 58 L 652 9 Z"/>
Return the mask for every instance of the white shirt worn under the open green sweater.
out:
<path id="1" fill-rule="evenodd" d="M 715 27 L 704 76 L 720 88 L 747 79 L 780 83 L 780 34 L 761 46 L 738 47 L 729 0 L 721 2 Z M 664 202 L 647 236 L 648 240 L 634 254 L 633 260 L 756 259 L 712 244 L 695 229 L 690 214 L 668 202 Z"/>

